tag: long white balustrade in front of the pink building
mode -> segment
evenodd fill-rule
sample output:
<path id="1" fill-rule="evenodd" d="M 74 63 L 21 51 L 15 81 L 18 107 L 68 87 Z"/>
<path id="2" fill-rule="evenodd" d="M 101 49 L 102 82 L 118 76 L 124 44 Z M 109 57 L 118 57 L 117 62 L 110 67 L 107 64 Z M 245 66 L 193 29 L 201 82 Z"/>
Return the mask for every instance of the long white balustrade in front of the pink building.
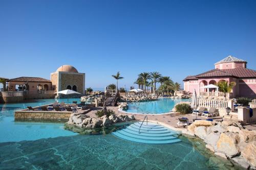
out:
<path id="1" fill-rule="evenodd" d="M 226 109 L 227 107 L 230 107 L 233 110 L 232 101 L 198 99 L 198 106 L 207 108 L 215 107 L 216 109 Z"/>

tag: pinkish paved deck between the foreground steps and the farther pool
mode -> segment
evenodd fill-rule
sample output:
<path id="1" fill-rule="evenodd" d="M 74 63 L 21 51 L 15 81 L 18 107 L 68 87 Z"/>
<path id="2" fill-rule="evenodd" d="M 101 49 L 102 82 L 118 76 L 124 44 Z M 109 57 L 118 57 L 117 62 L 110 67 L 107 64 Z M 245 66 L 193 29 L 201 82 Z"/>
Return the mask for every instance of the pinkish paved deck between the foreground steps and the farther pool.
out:
<path id="1" fill-rule="evenodd" d="M 101 107 L 94 108 L 92 111 L 87 113 L 87 115 L 90 115 L 90 117 L 97 117 L 95 115 L 95 112 L 99 109 L 102 109 Z M 156 122 L 159 123 L 163 126 L 166 126 L 170 129 L 177 130 L 177 131 L 183 131 L 186 128 L 183 127 L 178 127 L 177 128 L 177 123 L 178 123 L 178 118 L 179 117 L 187 117 L 189 120 L 189 123 L 193 123 L 193 119 L 196 118 L 196 116 L 193 116 L 191 114 L 177 114 L 177 113 L 170 113 L 170 114 L 159 114 L 159 115 L 150 115 L 150 114 L 130 114 L 130 113 L 124 113 L 118 110 L 118 107 L 108 107 L 108 109 L 114 110 L 116 114 L 122 114 L 122 115 L 134 115 L 136 120 L 143 120 L 145 115 L 147 115 L 147 120 L 150 122 Z M 205 117 L 198 116 L 200 119 L 207 119 Z M 209 117 L 211 118 L 211 117 Z M 214 120 L 222 120 L 222 116 L 217 116 L 213 117 L 212 119 Z M 244 126 L 248 130 L 256 130 L 256 125 L 246 125 Z"/>

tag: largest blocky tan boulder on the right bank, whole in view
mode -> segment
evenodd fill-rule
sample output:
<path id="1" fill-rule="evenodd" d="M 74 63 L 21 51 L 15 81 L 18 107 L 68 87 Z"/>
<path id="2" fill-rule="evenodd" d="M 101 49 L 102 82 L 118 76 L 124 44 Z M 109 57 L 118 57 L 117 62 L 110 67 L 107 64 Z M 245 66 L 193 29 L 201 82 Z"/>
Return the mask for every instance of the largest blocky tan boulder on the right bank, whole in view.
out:
<path id="1" fill-rule="evenodd" d="M 237 133 L 226 132 L 221 133 L 217 142 L 217 151 L 226 154 L 228 157 L 233 157 L 240 153 L 238 148 L 239 136 Z"/>

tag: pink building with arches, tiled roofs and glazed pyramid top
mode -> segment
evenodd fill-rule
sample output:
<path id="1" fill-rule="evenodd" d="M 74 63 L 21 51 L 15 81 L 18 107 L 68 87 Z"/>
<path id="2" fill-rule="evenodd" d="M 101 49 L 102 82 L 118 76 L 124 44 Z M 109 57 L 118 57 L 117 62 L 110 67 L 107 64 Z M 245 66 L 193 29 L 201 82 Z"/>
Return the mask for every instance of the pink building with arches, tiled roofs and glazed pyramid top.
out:
<path id="1" fill-rule="evenodd" d="M 247 96 L 256 98 L 256 71 L 246 68 L 247 62 L 236 57 L 228 56 L 215 63 L 215 69 L 203 72 L 196 76 L 187 76 L 184 82 L 184 90 L 197 93 L 206 89 L 200 88 L 208 84 L 217 84 L 219 81 L 236 82 L 233 88 L 233 96 Z M 215 89 L 209 89 L 215 91 Z"/>

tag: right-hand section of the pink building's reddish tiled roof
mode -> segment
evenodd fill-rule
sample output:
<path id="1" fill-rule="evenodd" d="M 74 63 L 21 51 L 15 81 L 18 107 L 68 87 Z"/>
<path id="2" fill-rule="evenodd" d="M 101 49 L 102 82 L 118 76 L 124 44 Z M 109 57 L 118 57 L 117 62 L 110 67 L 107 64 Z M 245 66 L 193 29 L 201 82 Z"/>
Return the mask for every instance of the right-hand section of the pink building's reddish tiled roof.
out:
<path id="1" fill-rule="evenodd" d="M 237 67 L 233 69 L 223 69 L 223 71 L 239 78 L 256 78 L 256 71 L 244 67 Z"/>

